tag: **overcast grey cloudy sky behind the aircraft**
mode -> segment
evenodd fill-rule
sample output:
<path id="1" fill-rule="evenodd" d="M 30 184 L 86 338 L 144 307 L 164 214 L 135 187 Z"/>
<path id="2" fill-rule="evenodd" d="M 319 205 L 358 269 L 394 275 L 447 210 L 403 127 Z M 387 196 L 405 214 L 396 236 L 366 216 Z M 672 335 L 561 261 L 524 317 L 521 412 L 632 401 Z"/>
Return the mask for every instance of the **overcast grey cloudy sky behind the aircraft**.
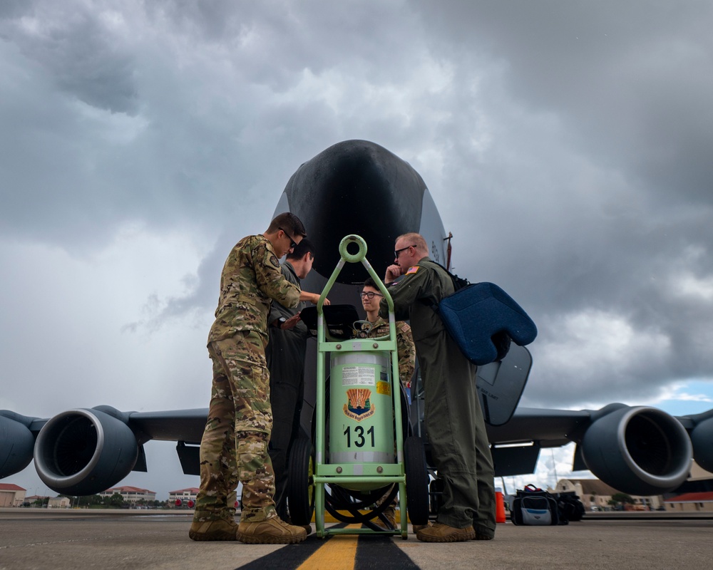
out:
<path id="1" fill-rule="evenodd" d="M 0 408 L 206 406 L 227 252 L 302 162 L 352 138 L 409 161 L 456 272 L 535 319 L 524 405 L 712 408 L 712 16 L 696 0 L 3 1 Z M 172 449 L 148 444 L 150 472 L 125 482 L 197 486 Z M 6 482 L 44 490 L 34 467 Z"/>

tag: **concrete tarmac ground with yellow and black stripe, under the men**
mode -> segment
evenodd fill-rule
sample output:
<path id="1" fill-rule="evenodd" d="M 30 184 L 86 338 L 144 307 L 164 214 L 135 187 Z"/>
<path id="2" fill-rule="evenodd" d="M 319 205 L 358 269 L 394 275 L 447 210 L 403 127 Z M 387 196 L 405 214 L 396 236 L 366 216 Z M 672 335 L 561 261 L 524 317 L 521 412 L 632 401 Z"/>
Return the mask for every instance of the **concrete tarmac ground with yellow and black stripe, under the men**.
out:
<path id="1" fill-rule="evenodd" d="M 590 514 L 559 527 L 498 524 L 493 541 L 426 544 L 377 536 L 301 544 L 194 542 L 191 513 L 0 509 L 0 570 L 708 568 L 713 517 Z M 313 525 L 314 527 L 314 525 Z M 410 527 L 409 527 L 410 530 Z"/>

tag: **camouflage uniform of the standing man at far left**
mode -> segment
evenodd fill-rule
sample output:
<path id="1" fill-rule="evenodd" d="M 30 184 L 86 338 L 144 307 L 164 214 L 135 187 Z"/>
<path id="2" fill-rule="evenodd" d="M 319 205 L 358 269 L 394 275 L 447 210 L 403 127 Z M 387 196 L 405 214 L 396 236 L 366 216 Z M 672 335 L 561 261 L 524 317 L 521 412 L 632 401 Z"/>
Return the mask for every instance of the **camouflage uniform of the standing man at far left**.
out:
<path id="1" fill-rule="evenodd" d="M 267 443 L 272 429 L 265 363 L 271 300 L 296 306 L 299 287 L 279 268 L 263 236 L 240 240 L 220 276 L 220 299 L 208 335 L 213 361 L 210 409 L 200 442 L 200 492 L 194 522 L 230 519 L 242 481 L 242 521 L 275 516 L 275 484 Z"/>

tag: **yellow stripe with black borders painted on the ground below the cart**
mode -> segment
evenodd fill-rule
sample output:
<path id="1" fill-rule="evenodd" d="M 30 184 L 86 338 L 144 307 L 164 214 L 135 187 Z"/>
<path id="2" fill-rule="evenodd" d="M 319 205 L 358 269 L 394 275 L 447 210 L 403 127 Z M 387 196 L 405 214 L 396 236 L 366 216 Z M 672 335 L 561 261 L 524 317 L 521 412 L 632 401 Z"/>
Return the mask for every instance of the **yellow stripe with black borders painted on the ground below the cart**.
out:
<path id="1" fill-rule="evenodd" d="M 336 525 L 347 527 L 345 524 Z M 361 527 L 350 524 L 347 528 Z M 419 570 L 407 554 L 394 543 L 393 535 L 342 535 L 320 539 L 312 534 L 299 544 L 289 544 L 237 570 L 284 568 L 294 570 Z M 415 538 L 415 537 L 414 537 Z"/>

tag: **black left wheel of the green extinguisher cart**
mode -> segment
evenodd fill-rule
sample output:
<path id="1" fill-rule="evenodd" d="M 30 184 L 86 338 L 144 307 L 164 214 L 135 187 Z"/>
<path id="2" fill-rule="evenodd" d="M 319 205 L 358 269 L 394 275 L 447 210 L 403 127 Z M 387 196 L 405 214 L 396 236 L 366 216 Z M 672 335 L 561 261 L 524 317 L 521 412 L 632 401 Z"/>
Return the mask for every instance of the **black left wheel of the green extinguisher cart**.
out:
<path id="1" fill-rule="evenodd" d="M 292 524 L 309 524 L 314 512 L 314 460 L 312 442 L 299 437 L 289 452 L 287 505 Z"/>

